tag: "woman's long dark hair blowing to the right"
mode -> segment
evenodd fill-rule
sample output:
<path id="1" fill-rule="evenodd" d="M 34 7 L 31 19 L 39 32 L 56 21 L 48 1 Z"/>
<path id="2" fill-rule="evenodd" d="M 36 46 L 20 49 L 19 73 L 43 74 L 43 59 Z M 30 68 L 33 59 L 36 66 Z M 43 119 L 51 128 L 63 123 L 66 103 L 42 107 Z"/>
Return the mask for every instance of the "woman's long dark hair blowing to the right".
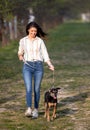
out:
<path id="1" fill-rule="evenodd" d="M 37 29 L 37 34 L 36 36 L 38 37 L 45 37 L 47 34 L 42 30 L 42 28 L 36 23 L 36 22 L 30 22 L 27 24 L 26 26 L 26 34 L 28 35 L 29 34 L 29 29 L 31 27 L 35 27 Z"/>

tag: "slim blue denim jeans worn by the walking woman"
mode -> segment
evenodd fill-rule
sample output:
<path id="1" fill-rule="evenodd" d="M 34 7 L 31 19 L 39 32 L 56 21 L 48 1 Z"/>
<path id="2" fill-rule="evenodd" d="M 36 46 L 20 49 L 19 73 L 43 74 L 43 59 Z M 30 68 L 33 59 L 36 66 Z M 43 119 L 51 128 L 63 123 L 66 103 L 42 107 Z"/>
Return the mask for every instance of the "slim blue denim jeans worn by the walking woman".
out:
<path id="1" fill-rule="evenodd" d="M 41 61 L 28 62 L 23 65 L 23 77 L 26 86 L 27 107 L 32 107 L 32 80 L 34 78 L 34 108 L 39 107 L 40 85 L 43 77 L 43 63 Z"/>

